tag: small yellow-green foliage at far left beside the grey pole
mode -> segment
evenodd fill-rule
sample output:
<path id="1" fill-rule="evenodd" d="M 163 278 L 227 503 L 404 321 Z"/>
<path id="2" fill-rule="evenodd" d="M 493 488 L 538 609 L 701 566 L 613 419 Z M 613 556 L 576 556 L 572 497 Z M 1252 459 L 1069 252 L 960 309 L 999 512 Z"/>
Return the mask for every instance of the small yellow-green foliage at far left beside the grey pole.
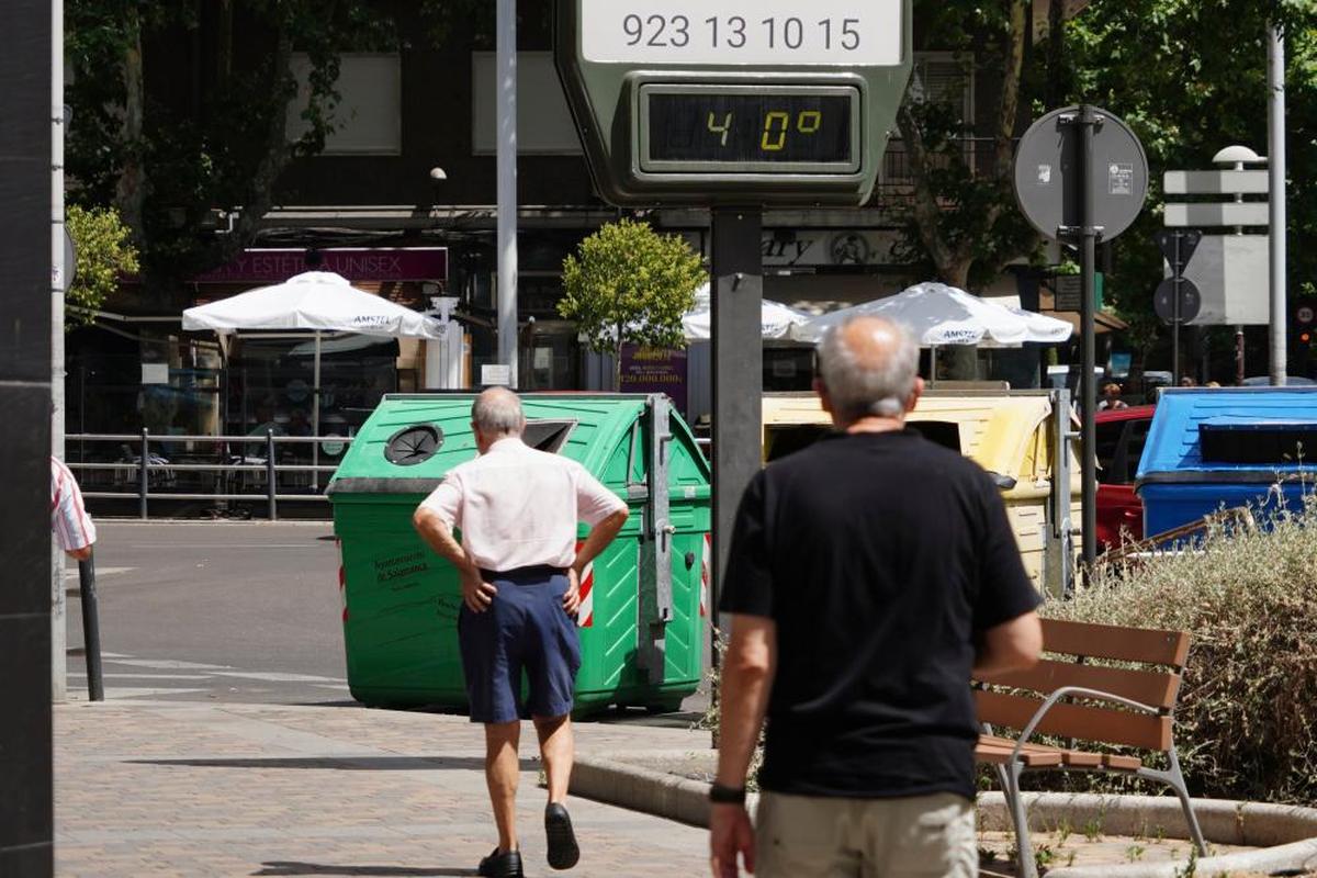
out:
<path id="1" fill-rule="evenodd" d="M 132 233 L 113 208 L 70 205 L 65 224 L 78 259 L 76 275 L 65 300 L 82 309 L 67 311 L 65 325 L 78 326 L 92 323 L 91 312 L 119 288 L 120 275 L 137 271 L 137 250 L 130 241 Z"/>

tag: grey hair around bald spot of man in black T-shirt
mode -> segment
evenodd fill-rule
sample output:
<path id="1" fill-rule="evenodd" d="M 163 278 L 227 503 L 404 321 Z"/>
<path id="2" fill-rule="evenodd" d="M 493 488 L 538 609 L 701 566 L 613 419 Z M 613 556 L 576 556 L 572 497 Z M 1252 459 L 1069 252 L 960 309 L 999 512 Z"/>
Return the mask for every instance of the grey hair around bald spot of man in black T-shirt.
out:
<path id="1" fill-rule="evenodd" d="M 861 362 L 847 342 L 847 329 L 857 320 L 881 324 L 896 337 L 877 363 Z M 905 413 L 919 378 L 919 345 L 905 326 L 882 317 L 851 317 L 823 336 L 818 357 L 819 378 L 844 421 Z"/>

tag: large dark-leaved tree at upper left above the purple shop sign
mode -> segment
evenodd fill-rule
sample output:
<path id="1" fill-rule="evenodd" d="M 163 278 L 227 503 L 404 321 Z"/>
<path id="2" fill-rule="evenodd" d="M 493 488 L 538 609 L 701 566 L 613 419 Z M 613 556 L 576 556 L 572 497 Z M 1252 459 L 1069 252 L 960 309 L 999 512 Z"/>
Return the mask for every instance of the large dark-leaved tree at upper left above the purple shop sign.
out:
<path id="1" fill-rule="evenodd" d="M 67 0 L 75 201 L 119 208 L 142 283 L 179 304 L 182 280 L 249 246 L 286 195 L 281 176 L 324 149 L 340 120 L 342 51 L 441 41 L 479 0 Z M 419 37 L 403 33 L 406 14 Z M 179 46 L 187 46 L 180 51 Z M 309 59 L 307 130 L 290 140 L 294 51 Z M 148 87 L 150 84 L 150 88 Z M 216 232 L 216 209 L 240 208 Z"/>

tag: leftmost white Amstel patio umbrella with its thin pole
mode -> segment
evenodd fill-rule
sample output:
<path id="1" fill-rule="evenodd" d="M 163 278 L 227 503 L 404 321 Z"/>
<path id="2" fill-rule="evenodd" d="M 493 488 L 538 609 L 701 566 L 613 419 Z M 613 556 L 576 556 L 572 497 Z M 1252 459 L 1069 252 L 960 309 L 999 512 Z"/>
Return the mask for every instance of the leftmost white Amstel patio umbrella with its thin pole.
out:
<path id="1" fill-rule="evenodd" d="M 411 308 L 357 290 L 332 271 L 307 271 L 271 287 L 259 287 L 230 299 L 183 312 L 183 329 L 209 329 L 221 336 L 244 329 L 292 329 L 315 333 L 311 430 L 320 436 L 320 334 L 354 332 L 385 338 L 443 338 L 445 326 Z M 320 444 L 312 445 L 312 466 L 320 465 Z M 320 474 L 313 473 L 320 487 Z"/>

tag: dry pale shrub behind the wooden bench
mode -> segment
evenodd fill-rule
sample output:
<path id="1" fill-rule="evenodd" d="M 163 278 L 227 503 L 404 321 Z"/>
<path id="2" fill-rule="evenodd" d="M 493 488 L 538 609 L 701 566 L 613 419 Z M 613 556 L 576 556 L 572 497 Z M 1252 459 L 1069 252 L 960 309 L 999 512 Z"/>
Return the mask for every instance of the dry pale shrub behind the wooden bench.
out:
<path id="1" fill-rule="evenodd" d="M 1044 609 L 1192 633 L 1175 736 L 1195 795 L 1317 803 L 1317 496 L 1305 507 L 1104 570 Z"/>

